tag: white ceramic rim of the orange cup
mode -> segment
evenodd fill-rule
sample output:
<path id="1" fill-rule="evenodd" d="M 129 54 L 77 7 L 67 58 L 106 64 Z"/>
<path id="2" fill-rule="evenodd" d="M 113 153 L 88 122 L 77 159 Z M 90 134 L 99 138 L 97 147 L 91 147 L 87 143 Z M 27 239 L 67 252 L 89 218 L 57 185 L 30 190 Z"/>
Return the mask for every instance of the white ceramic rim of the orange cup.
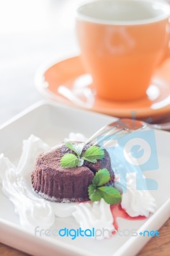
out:
<path id="1" fill-rule="evenodd" d="M 149 19 L 139 19 L 139 20 L 105 20 L 105 19 L 98 19 L 95 17 L 91 17 L 90 15 L 84 15 L 81 13 L 82 8 L 93 4 L 93 3 L 102 3 L 102 2 L 113 2 L 116 4 L 122 4 L 122 3 L 134 3 L 134 2 L 140 2 L 141 4 L 143 3 L 148 3 L 150 4 L 157 4 L 157 6 L 160 6 L 162 8 L 162 14 L 157 15 L 155 17 L 151 17 Z M 153 1 L 153 0 L 96 0 L 96 1 L 89 1 L 84 4 L 81 4 L 76 11 L 76 19 L 85 21 L 85 22 L 90 22 L 90 23 L 95 23 L 95 24 L 103 24 L 103 25 L 120 25 L 120 26 L 134 26 L 134 25 L 143 25 L 143 24 L 150 24 L 150 23 L 155 23 L 155 22 L 160 22 L 162 20 L 170 18 L 170 4 L 166 2 L 161 2 L 161 1 Z"/>

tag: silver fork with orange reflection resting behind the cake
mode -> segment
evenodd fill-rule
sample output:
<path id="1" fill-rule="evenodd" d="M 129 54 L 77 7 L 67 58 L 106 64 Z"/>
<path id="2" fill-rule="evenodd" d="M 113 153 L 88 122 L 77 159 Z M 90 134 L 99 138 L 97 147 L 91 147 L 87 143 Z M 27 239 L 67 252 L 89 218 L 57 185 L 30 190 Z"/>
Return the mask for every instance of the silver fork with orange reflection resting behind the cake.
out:
<path id="1" fill-rule="evenodd" d="M 109 135 L 114 136 L 114 134 L 119 134 L 119 133 L 123 134 L 123 133 L 127 133 L 127 132 L 133 132 L 133 131 L 143 129 L 146 126 L 151 127 L 153 129 L 160 129 L 160 130 L 164 130 L 164 131 L 170 130 L 169 123 L 160 124 L 160 125 L 147 124 L 146 122 L 139 121 L 139 120 L 133 120 L 130 118 L 129 119 L 128 118 L 120 118 L 116 122 L 112 122 L 111 124 L 105 125 L 101 129 L 99 129 L 97 132 L 95 132 L 95 134 L 93 134 L 85 142 L 85 144 L 93 143 L 93 141 L 95 141 L 99 137 L 99 140 L 97 142 L 93 143 L 93 145 L 97 145 L 98 143 L 100 143 L 100 141 L 103 140 L 103 138 L 100 138 L 100 136 L 109 136 Z M 107 143 L 109 143 L 109 141 Z"/>

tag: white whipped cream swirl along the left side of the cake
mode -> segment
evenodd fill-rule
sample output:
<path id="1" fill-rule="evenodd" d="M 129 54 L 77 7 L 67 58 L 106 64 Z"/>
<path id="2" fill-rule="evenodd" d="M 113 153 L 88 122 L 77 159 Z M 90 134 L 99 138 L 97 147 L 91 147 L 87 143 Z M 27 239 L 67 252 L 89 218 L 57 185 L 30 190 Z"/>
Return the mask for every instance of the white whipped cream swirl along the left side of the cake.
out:
<path id="1" fill-rule="evenodd" d="M 31 172 L 35 157 L 40 152 L 49 150 L 49 146 L 39 138 L 31 135 L 23 141 L 22 156 L 15 167 L 3 154 L 0 156 L 0 176 L 3 193 L 15 205 L 20 224 L 31 228 L 37 225 L 49 227 L 54 223 L 54 213 L 48 201 L 36 196 L 31 186 Z"/>

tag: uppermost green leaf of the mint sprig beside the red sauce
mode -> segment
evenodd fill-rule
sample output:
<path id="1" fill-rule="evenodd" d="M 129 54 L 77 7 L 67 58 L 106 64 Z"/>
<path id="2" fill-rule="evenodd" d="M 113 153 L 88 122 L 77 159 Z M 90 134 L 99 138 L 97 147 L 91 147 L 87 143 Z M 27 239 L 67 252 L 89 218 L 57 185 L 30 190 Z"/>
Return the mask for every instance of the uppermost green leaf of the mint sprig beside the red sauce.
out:
<path id="1" fill-rule="evenodd" d="M 104 169 L 100 169 L 96 174 L 95 177 L 93 177 L 92 183 L 95 186 L 102 186 L 105 183 L 107 183 L 109 180 L 111 179 L 111 175 L 109 173 L 109 171 L 104 168 Z"/>

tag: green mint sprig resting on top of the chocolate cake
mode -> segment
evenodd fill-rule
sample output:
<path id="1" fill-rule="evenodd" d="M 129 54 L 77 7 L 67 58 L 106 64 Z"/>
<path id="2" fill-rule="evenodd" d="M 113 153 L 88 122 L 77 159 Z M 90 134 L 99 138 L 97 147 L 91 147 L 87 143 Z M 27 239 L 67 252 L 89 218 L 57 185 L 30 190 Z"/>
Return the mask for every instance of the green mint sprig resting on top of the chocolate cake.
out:
<path id="1" fill-rule="evenodd" d="M 97 163 L 98 159 L 102 159 L 104 157 L 104 150 L 97 146 L 89 147 L 84 154 L 82 154 L 82 149 L 84 147 L 84 143 L 65 143 L 66 147 L 70 148 L 76 155 L 68 153 L 61 157 L 61 166 L 64 168 L 73 168 L 75 166 L 82 166 L 84 161 L 88 161 L 90 163 Z M 81 156 L 82 154 L 82 156 Z"/>

